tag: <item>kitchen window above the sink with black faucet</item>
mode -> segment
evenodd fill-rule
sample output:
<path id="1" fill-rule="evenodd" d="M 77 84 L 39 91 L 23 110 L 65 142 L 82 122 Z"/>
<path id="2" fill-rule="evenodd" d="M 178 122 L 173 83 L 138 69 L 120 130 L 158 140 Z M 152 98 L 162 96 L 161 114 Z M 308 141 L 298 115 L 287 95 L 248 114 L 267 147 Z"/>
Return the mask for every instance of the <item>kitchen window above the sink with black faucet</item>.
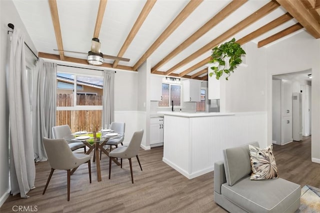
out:
<path id="1" fill-rule="evenodd" d="M 177 84 L 162 83 L 162 101 L 159 101 L 159 107 L 180 106 L 181 86 Z"/>

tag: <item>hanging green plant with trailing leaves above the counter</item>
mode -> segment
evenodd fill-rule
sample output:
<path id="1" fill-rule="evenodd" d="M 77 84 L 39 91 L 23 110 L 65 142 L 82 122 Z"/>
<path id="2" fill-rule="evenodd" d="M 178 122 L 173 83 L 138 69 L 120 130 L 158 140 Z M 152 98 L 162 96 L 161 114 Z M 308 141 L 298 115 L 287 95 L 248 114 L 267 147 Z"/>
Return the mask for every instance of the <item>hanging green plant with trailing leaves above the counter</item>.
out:
<path id="1" fill-rule="evenodd" d="M 231 72 L 242 63 L 241 55 L 245 55 L 245 51 L 241 48 L 240 44 L 235 42 L 235 38 L 214 47 L 212 49 L 211 60 L 209 61 L 209 63 L 213 64 L 211 67 L 213 72 L 210 72 L 209 76 L 215 75 L 215 78 L 219 80 L 223 73 L 225 73 L 227 75 L 225 80 L 228 80 Z"/>

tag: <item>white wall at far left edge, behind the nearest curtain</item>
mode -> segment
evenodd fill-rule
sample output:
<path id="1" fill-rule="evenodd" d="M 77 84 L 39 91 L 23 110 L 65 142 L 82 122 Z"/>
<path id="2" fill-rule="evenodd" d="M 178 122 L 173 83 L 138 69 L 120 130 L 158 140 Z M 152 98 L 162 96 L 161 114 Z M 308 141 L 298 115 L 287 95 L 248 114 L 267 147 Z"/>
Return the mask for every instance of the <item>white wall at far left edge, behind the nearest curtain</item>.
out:
<path id="1" fill-rule="evenodd" d="M 5 201 L 9 193 L 9 154 L 8 154 L 8 102 L 6 97 L 5 70 L 8 56 L 7 40 L 8 23 L 12 23 L 15 29 L 19 29 L 24 34 L 25 42 L 35 50 L 34 45 L 27 34 L 25 27 L 17 13 L 17 10 L 11 0 L 0 0 L 0 206 Z M 28 51 L 28 50 L 26 50 Z"/>

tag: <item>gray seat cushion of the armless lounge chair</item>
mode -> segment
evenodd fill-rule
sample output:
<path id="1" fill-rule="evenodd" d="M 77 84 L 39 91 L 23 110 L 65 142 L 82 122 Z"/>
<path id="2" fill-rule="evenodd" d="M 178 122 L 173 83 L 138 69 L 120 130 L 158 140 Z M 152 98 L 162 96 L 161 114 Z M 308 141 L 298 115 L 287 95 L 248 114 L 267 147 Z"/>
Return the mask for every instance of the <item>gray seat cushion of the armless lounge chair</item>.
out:
<path id="1" fill-rule="evenodd" d="M 233 186 L 222 184 L 221 194 L 247 212 L 282 213 L 299 202 L 301 188 L 281 178 L 251 181 L 247 177 Z"/>

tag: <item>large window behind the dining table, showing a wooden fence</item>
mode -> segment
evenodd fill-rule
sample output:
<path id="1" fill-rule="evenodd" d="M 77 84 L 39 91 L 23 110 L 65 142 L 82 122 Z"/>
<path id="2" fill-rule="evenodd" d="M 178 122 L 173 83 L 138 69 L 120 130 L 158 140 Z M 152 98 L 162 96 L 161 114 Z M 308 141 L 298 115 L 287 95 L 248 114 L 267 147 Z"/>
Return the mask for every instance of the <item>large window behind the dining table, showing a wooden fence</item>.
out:
<path id="1" fill-rule="evenodd" d="M 88 74 L 57 73 L 56 126 L 72 132 L 98 131 L 102 119 L 103 78 Z"/>

